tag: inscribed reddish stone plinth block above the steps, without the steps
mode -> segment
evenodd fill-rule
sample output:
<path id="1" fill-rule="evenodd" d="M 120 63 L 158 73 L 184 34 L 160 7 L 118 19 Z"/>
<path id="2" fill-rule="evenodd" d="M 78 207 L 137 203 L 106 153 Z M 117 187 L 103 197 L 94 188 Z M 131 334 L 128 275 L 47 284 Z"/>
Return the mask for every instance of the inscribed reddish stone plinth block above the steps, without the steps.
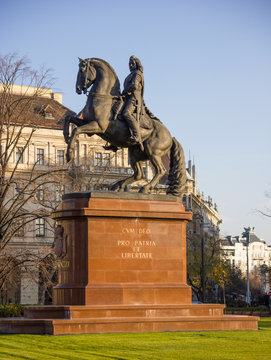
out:
<path id="1" fill-rule="evenodd" d="M 191 217 L 173 196 L 65 195 L 54 213 L 67 234 L 54 304 L 190 304 L 186 223 Z"/>

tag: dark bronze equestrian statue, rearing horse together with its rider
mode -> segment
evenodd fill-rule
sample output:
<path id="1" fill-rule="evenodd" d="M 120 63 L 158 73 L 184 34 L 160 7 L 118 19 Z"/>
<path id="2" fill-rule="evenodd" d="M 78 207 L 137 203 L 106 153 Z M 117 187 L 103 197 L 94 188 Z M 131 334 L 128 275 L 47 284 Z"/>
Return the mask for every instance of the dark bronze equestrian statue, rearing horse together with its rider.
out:
<path id="1" fill-rule="evenodd" d="M 147 194 L 165 175 L 162 157 L 170 152 L 167 194 L 181 196 L 186 183 L 182 146 L 145 105 L 143 66 L 140 60 L 131 56 L 129 68 L 130 74 L 124 81 L 121 93 L 119 79 L 105 60 L 79 58 L 76 92 L 88 95 L 83 110 L 77 116 L 68 115 L 64 120 L 67 162 L 74 159 L 78 135 L 96 134 L 110 143 L 107 149 L 116 151 L 118 148 L 128 148 L 134 171 L 132 176 L 114 183 L 110 190 L 127 189 L 127 185 L 144 179 L 142 162 L 150 160 L 154 167 L 154 177 L 140 189 L 141 193 Z M 77 126 L 71 135 L 70 124 Z"/>

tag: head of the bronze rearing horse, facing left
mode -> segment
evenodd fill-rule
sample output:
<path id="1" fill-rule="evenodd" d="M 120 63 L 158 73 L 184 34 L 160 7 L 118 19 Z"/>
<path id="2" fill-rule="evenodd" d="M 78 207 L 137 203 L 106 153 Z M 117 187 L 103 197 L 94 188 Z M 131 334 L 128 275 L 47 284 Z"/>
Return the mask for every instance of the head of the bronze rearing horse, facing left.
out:
<path id="1" fill-rule="evenodd" d="M 91 64 L 90 59 L 80 59 L 79 58 L 79 71 L 76 81 L 76 92 L 77 94 L 84 94 L 87 92 L 87 89 L 94 83 L 96 79 L 96 70 Z"/>

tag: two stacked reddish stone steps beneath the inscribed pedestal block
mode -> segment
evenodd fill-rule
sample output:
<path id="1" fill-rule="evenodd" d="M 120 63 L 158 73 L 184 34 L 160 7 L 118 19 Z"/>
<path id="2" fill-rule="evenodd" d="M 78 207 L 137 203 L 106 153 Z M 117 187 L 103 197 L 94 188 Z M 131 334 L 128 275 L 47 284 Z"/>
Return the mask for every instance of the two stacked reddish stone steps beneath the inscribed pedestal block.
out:
<path id="1" fill-rule="evenodd" d="M 24 318 L 1 319 L 0 333 L 90 334 L 257 330 L 258 317 L 225 316 L 223 305 L 37 306 Z"/>

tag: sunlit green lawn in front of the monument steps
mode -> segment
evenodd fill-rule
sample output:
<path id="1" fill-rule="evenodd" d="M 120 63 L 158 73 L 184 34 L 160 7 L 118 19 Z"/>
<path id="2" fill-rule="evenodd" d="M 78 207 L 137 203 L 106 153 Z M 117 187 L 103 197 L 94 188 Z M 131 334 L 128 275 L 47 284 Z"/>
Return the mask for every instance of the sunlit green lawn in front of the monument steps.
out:
<path id="1" fill-rule="evenodd" d="M 0 335 L 0 359 L 31 360 L 268 360 L 271 318 L 259 331 Z"/>

